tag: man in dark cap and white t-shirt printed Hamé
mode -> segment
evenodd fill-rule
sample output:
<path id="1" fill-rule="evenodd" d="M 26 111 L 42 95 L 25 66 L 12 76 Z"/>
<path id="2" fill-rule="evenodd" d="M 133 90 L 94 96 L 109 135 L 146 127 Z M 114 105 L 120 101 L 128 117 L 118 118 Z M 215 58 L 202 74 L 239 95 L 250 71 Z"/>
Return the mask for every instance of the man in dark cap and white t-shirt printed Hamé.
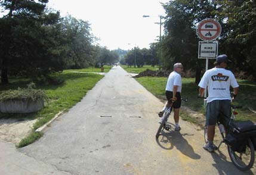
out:
<path id="1" fill-rule="evenodd" d="M 215 67 L 205 71 L 199 83 L 199 95 L 203 97 L 206 87 L 209 96 L 206 99 L 206 125 L 208 126 L 208 143 L 203 148 L 209 152 L 214 152 L 216 146 L 213 144 L 215 135 L 215 125 L 217 120 L 226 128 L 230 120 L 230 86 L 233 87 L 234 97 L 238 94 L 239 85 L 234 74 L 226 70 L 227 55 L 219 55 L 214 62 Z"/>

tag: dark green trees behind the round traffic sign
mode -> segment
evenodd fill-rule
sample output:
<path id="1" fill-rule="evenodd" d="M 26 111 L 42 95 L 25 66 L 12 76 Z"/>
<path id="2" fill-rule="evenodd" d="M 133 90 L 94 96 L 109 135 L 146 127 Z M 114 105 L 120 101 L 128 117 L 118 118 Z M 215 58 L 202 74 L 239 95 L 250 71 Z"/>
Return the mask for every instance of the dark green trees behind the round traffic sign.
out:
<path id="1" fill-rule="evenodd" d="M 219 54 L 228 55 L 233 61 L 230 67 L 233 70 L 245 71 L 256 77 L 254 1 L 177 0 L 169 1 L 163 7 L 166 11 L 166 36 L 159 42 L 159 51 L 163 55 L 161 58 L 165 68 L 171 68 L 175 62 L 182 62 L 185 68 L 196 70 L 200 76 L 203 60 L 198 59 L 196 27 L 199 21 L 214 18 L 222 27 L 218 39 Z"/>

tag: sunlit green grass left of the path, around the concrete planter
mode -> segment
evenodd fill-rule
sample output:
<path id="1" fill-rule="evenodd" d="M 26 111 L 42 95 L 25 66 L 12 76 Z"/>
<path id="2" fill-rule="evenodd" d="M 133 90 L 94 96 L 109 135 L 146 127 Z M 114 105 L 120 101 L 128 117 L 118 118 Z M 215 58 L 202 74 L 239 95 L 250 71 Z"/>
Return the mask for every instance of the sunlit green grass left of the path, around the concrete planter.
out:
<path id="1" fill-rule="evenodd" d="M 63 73 L 55 73 L 51 75 L 53 78 L 62 79 L 64 83 L 61 85 L 36 85 L 38 89 L 45 91 L 50 98 L 48 105 L 41 111 L 30 114 L 4 114 L 0 112 L 0 118 L 38 118 L 38 121 L 33 126 L 33 131 L 47 123 L 60 111 L 68 111 L 76 103 L 87 94 L 88 90 L 92 89 L 95 84 L 103 76 L 99 74 L 84 74 L 84 73 L 71 73 L 63 71 Z M 10 84 L 0 86 L 0 90 L 17 89 L 17 87 L 26 87 L 29 83 L 28 79 L 10 79 Z M 21 140 L 18 147 L 23 147 L 34 142 L 42 136 L 42 133 L 32 132 L 28 137 Z"/>

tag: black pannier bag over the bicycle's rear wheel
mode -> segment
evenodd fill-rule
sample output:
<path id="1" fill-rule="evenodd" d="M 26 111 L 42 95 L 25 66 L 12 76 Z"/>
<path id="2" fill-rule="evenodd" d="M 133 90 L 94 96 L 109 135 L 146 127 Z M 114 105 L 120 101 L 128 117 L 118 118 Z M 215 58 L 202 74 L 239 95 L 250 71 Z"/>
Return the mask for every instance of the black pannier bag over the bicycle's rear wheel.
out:
<path id="1" fill-rule="evenodd" d="M 229 133 L 226 135 L 226 143 L 233 151 L 243 152 L 249 137 L 256 150 L 256 124 L 250 120 L 239 121 L 230 125 Z"/>

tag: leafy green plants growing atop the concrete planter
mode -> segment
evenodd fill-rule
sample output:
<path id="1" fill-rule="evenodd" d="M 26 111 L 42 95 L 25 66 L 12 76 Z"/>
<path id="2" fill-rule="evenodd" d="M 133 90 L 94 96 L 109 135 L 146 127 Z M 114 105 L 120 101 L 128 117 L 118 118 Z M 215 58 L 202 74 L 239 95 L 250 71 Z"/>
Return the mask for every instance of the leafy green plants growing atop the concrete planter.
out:
<path id="1" fill-rule="evenodd" d="M 29 83 L 26 89 L 18 87 L 17 90 L 10 89 L 0 92 L 0 101 L 9 99 L 32 99 L 33 101 L 36 101 L 41 98 L 48 101 L 45 92 L 41 89 L 35 89 L 35 83 L 33 82 Z"/>

